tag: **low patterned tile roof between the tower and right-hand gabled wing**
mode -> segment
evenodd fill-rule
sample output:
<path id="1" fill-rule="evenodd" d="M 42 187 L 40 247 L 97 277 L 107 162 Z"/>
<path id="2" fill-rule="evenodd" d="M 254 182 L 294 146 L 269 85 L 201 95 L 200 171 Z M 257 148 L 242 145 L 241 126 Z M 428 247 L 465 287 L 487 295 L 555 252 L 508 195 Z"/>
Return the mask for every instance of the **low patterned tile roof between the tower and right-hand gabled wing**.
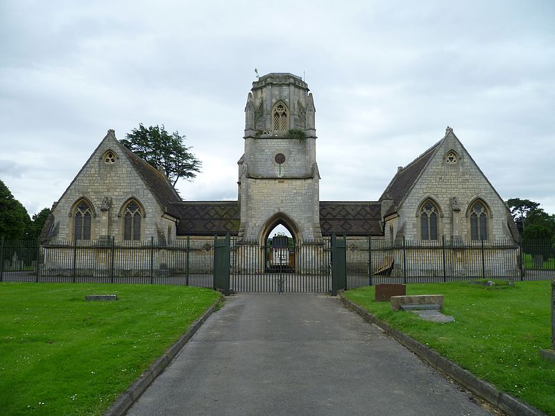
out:
<path id="1" fill-rule="evenodd" d="M 323 236 L 382 236 L 381 202 L 320 201 Z"/>

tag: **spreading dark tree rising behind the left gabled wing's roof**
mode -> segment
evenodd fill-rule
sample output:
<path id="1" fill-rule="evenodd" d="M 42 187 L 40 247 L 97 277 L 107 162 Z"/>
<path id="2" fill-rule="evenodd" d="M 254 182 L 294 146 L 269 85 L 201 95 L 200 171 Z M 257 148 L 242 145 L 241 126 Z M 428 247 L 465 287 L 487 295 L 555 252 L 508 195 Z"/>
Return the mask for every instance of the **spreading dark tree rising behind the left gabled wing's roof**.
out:
<path id="1" fill-rule="evenodd" d="M 155 125 L 149 128 L 141 123 L 139 128 L 121 139 L 120 143 L 131 150 L 135 155 L 151 164 L 155 168 L 162 168 L 172 186 L 183 177 L 192 180 L 196 173 L 200 173 L 202 163 L 183 144 L 185 136 L 180 136 L 177 131 L 171 135 L 162 127 Z"/>

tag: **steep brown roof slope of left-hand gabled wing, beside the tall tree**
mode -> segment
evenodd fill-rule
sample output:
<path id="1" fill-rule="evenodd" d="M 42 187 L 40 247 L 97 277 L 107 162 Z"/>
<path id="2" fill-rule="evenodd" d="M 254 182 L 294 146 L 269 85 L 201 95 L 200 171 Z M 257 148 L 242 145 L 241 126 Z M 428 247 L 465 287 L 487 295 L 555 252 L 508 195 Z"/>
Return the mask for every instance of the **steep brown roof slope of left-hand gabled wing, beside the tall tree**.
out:
<path id="1" fill-rule="evenodd" d="M 167 210 L 167 213 L 172 216 L 178 216 L 177 211 L 173 211 L 173 202 L 180 202 L 181 198 L 177 191 L 173 189 L 171 183 L 164 173 L 160 172 L 157 168 L 146 163 L 143 159 L 135 155 L 131 150 L 119 143 L 119 147 L 126 154 L 129 162 L 133 164 L 135 171 L 142 177 L 148 189 L 152 192 L 154 198 L 161 207 Z"/>

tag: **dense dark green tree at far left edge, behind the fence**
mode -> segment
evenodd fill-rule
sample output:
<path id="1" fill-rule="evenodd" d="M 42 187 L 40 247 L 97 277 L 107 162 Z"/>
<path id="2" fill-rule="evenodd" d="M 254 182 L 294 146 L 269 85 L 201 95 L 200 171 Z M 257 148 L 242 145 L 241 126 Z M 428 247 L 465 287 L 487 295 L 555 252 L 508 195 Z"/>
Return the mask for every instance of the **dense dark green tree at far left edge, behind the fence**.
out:
<path id="1" fill-rule="evenodd" d="M 31 238 L 31 229 L 27 210 L 0 180 L 0 236 L 8 240 Z"/>

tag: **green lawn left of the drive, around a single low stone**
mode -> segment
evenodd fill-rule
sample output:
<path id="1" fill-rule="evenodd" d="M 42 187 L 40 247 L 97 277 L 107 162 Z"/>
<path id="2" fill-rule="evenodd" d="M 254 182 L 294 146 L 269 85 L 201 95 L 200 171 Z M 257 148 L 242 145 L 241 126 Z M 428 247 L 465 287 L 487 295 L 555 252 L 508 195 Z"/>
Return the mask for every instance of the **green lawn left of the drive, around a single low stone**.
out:
<path id="1" fill-rule="evenodd" d="M 97 294 L 119 300 L 85 302 Z M 218 297 L 185 286 L 0 283 L 0 413 L 101 415 Z"/>

